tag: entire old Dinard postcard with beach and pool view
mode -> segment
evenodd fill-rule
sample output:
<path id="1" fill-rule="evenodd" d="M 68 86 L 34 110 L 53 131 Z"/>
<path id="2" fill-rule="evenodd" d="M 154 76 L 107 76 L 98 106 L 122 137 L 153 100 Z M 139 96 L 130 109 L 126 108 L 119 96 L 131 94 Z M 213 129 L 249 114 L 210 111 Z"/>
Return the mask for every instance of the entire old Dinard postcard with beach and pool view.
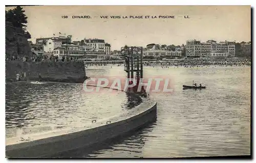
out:
<path id="1" fill-rule="evenodd" d="M 251 158 L 250 6 L 5 10 L 6 157 Z"/>

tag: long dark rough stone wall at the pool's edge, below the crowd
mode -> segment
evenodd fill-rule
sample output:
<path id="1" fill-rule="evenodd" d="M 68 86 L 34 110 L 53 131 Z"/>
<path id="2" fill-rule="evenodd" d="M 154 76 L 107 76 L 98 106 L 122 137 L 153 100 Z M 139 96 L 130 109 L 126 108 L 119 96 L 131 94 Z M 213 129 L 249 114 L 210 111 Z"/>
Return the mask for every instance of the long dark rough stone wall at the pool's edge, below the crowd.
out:
<path id="1" fill-rule="evenodd" d="M 39 73 L 45 82 L 83 83 L 86 72 L 83 62 L 23 62 L 6 61 L 6 81 L 16 80 L 16 74 L 26 72 L 22 80 L 38 80 Z"/>

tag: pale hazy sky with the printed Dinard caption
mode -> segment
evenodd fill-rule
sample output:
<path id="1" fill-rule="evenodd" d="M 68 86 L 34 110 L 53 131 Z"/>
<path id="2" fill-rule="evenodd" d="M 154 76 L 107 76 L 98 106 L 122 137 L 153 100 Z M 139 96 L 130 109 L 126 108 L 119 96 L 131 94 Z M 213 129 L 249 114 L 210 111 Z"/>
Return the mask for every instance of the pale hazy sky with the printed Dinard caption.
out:
<path id="1" fill-rule="evenodd" d="M 27 31 L 32 41 L 40 37 L 72 35 L 72 41 L 84 38 L 104 39 L 111 49 L 124 45 L 186 44 L 202 42 L 251 41 L 250 6 L 26 6 Z M 6 7 L 6 10 L 10 9 Z M 62 18 L 68 16 L 68 18 Z M 72 18 L 91 16 L 91 18 Z M 109 18 L 100 18 L 109 16 Z M 121 16 L 110 18 L 110 16 Z M 127 16 L 128 18 L 122 18 Z M 143 18 L 129 18 L 143 16 Z M 150 18 L 145 18 L 150 16 Z M 156 16 L 157 18 L 152 18 Z M 175 18 L 159 18 L 175 16 Z M 184 18 L 189 17 L 189 18 Z"/>

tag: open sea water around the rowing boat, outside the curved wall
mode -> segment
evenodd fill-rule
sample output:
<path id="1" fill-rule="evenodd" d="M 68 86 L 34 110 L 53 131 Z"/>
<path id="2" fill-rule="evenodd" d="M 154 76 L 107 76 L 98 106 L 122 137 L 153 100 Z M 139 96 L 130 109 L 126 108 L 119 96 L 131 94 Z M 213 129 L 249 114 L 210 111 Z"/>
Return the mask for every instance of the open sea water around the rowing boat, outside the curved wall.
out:
<path id="1" fill-rule="evenodd" d="M 140 134 L 143 146 L 131 135 L 89 157 L 195 157 L 250 154 L 250 67 L 198 67 L 163 69 L 144 67 L 144 77 L 165 76 L 174 92 L 151 94 L 157 100 L 157 122 Z M 122 67 L 106 70 L 117 76 Z M 91 70 L 91 74 L 98 75 Z M 125 75 L 125 74 L 123 74 Z M 205 90 L 182 90 L 193 80 Z M 142 145 L 142 144 L 141 144 Z M 116 147 L 116 148 L 115 148 Z M 115 150 L 114 150 L 115 149 Z M 69 155 L 72 156 L 72 155 Z M 80 157 L 86 154 L 80 153 Z"/>

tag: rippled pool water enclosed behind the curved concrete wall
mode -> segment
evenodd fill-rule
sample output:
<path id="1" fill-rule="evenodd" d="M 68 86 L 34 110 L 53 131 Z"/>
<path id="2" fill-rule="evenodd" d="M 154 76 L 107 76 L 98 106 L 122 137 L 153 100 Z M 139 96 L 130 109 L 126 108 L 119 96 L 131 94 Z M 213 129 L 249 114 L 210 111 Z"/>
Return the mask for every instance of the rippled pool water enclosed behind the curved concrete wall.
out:
<path id="1" fill-rule="evenodd" d="M 108 89 L 88 94 L 77 84 L 6 84 L 6 137 L 82 125 L 116 116 L 140 102 Z"/>

